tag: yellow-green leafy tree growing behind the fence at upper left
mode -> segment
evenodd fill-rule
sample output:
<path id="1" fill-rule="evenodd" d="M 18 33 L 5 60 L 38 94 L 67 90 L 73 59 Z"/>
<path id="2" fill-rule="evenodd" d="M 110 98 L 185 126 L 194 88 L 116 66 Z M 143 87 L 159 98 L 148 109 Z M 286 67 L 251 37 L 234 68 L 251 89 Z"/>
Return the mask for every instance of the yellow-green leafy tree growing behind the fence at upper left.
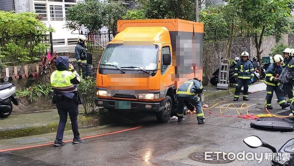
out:
<path id="1" fill-rule="evenodd" d="M 36 56 L 33 55 L 44 53 L 49 48 L 42 43 L 43 37 L 38 35 L 46 34 L 48 31 L 54 29 L 47 28 L 36 13 L 0 11 L 0 57 L 21 62 L 36 60 Z"/>

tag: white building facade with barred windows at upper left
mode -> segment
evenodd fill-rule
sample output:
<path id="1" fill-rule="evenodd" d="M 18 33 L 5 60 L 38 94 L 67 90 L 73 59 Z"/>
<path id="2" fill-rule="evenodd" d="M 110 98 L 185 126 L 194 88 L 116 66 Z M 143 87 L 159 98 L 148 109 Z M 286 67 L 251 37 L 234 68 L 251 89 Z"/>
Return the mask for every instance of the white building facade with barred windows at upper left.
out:
<path id="1" fill-rule="evenodd" d="M 78 0 L 0 0 L 0 10 L 19 12 L 36 12 L 47 27 L 52 27 L 53 47 L 75 46 L 78 31 L 65 27 L 67 10 Z"/>

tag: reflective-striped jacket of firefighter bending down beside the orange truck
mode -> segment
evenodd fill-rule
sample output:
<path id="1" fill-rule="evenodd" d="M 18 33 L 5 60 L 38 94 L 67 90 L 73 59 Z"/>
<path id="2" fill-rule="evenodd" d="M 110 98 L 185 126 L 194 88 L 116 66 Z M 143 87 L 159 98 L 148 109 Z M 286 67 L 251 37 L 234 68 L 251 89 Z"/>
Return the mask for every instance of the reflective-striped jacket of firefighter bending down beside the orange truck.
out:
<path id="1" fill-rule="evenodd" d="M 180 85 L 176 90 L 178 96 L 194 96 L 196 93 L 200 94 L 203 91 L 202 84 L 197 80 L 189 80 Z"/>

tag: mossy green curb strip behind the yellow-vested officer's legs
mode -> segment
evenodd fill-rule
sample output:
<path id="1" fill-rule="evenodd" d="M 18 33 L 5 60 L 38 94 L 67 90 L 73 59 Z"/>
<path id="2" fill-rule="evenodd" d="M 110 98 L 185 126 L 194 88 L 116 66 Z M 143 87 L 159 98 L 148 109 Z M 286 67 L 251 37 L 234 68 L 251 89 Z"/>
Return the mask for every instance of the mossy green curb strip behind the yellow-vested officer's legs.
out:
<path id="1" fill-rule="evenodd" d="M 0 139 L 19 138 L 19 137 L 54 133 L 57 131 L 58 123 L 59 122 L 51 122 L 48 124 L 32 126 L 27 128 L 2 130 L 0 131 Z M 107 123 L 109 123 L 107 121 L 107 118 L 105 118 L 103 115 L 100 115 L 100 114 L 94 114 L 94 115 L 88 115 L 88 116 L 79 114 L 78 116 L 79 128 L 93 127 L 98 125 L 104 125 Z M 72 130 L 70 118 L 68 118 L 68 121 L 65 126 L 65 130 Z"/>

